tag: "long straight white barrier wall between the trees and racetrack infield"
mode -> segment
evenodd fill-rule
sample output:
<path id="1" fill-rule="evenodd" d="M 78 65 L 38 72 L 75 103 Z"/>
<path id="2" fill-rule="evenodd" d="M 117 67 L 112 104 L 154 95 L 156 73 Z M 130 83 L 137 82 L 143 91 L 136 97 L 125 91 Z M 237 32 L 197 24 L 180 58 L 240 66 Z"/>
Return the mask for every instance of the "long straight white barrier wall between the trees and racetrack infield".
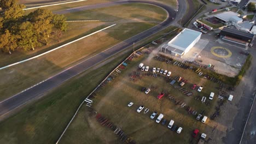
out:
<path id="1" fill-rule="evenodd" d="M 72 44 L 72 43 L 74 43 L 74 42 L 76 42 L 76 41 L 78 41 L 78 40 L 81 40 L 81 39 L 90 37 L 91 35 L 94 35 L 94 34 L 96 34 L 96 33 L 98 33 L 98 32 L 101 32 L 101 31 L 103 31 L 103 30 L 105 30 L 105 29 L 108 29 L 108 28 L 110 28 L 110 27 L 113 27 L 113 26 L 115 26 L 115 25 L 117 25 L 117 24 L 114 24 L 114 25 L 105 27 L 105 28 L 103 28 L 103 29 L 100 29 L 100 30 L 94 32 L 94 33 L 85 35 L 85 36 L 82 37 L 82 38 L 73 40 L 73 41 L 71 41 L 71 42 L 69 42 L 69 43 L 67 43 L 67 44 L 64 44 L 64 45 L 61 45 L 61 46 L 59 46 L 59 47 L 56 47 L 56 48 L 53 49 L 53 50 L 50 50 L 50 51 L 46 51 L 46 52 L 44 52 L 44 53 L 41 53 L 40 55 L 37 55 L 37 56 L 31 57 L 31 58 L 25 59 L 25 60 L 20 61 L 20 62 L 16 62 L 16 63 L 13 63 L 13 64 L 9 64 L 9 65 L 7 65 L 7 66 L 5 66 L 5 67 L 0 68 L 0 70 L 5 69 L 5 68 L 9 68 L 9 67 L 11 67 L 11 66 L 13 66 L 13 65 L 16 65 L 16 64 L 20 64 L 20 63 L 24 63 L 24 62 L 30 61 L 31 59 L 34 59 L 34 58 L 38 58 L 38 57 L 43 56 L 43 55 L 45 55 L 45 54 L 47 54 L 47 53 L 50 53 L 50 52 L 55 51 L 55 50 L 57 50 L 57 49 L 60 49 L 61 47 L 64 47 L 64 46 L 69 45 L 69 44 Z"/>

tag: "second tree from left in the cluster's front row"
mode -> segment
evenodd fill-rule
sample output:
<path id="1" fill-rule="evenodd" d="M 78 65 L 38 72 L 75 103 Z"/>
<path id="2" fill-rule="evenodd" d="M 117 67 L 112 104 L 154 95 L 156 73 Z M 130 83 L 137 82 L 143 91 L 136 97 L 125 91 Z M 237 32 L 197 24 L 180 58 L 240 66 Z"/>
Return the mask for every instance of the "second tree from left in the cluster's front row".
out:
<path id="1" fill-rule="evenodd" d="M 24 51 L 34 50 L 34 47 L 38 45 L 38 41 L 31 22 L 26 21 L 19 25 L 17 39 L 18 47 L 22 47 Z"/>

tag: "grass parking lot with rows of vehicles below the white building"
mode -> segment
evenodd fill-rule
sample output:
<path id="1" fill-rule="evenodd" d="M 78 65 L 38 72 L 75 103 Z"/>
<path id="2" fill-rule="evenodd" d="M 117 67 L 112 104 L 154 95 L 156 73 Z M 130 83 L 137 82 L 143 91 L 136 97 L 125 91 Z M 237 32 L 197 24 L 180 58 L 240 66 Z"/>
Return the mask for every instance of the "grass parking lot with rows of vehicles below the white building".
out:
<path id="1" fill-rule="evenodd" d="M 141 71 L 138 68 L 139 63 L 149 66 L 148 71 Z M 171 71 L 171 76 L 167 77 L 164 74 L 157 73 L 153 75 L 153 67 L 160 67 L 160 69 Z M 183 77 L 185 85 L 181 87 L 181 82 L 176 82 L 170 85 L 172 79 L 176 77 Z M 177 79 L 176 79 L 177 80 Z M 196 84 L 197 87 L 193 90 L 191 87 Z M 197 89 L 203 86 L 199 93 Z M 146 94 L 142 87 L 150 88 L 150 92 Z M 210 80 L 199 77 L 191 69 L 184 69 L 178 65 L 161 62 L 154 55 L 144 55 L 135 58 L 127 65 L 125 70 L 115 78 L 113 82 L 108 83 L 97 95 L 94 101 L 95 109 L 98 113 L 106 116 L 113 123 L 122 128 L 123 131 L 137 143 L 197 143 L 199 136 L 193 138 L 191 134 L 194 129 L 199 129 L 201 133 L 208 133 L 204 131 L 206 127 L 213 127 L 216 124 L 211 121 L 210 116 L 214 112 L 214 107 L 218 101 L 219 84 Z M 186 95 L 185 91 L 193 93 L 193 95 Z M 211 92 L 216 93 L 213 100 L 208 99 Z M 162 98 L 158 98 L 161 93 L 164 93 Z M 202 97 L 206 97 L 205 103 L 201 102 Z M 198 98 L 195 100 L 195 98 Z M 127 106 L 130 102 L 134 103 L 132 106 Z M 138 113 L 137 109 L 143 105 L 144 109 Z M 149 109 L 144 113 L 145 109 Z M 150 119 L 150 115 L 156 111 L 158 115 L 154 119 Z M 203 111 L 203 116 L 208 116 L 206 123 L 196 120 L 196 116 Z M 155 120 L 162 113 L 164 117 L 160 123 Z M 195 114 L 195 115 L 193 115 Z M 166 119 L 166 123 L 161 124 Z M 174 121 L 176 125 L 175 130 L 167 128 L 170 120 Z M 182 127 L 181 134 L 176 131 Z M 220 125 L 222 127 L 222 125 Z M 223 126 L 224 127 L 224 126 Z M 106 131 L 106 133 L 109 133 Z M 110 141 L 110 140 L 109 140 Z"/>

